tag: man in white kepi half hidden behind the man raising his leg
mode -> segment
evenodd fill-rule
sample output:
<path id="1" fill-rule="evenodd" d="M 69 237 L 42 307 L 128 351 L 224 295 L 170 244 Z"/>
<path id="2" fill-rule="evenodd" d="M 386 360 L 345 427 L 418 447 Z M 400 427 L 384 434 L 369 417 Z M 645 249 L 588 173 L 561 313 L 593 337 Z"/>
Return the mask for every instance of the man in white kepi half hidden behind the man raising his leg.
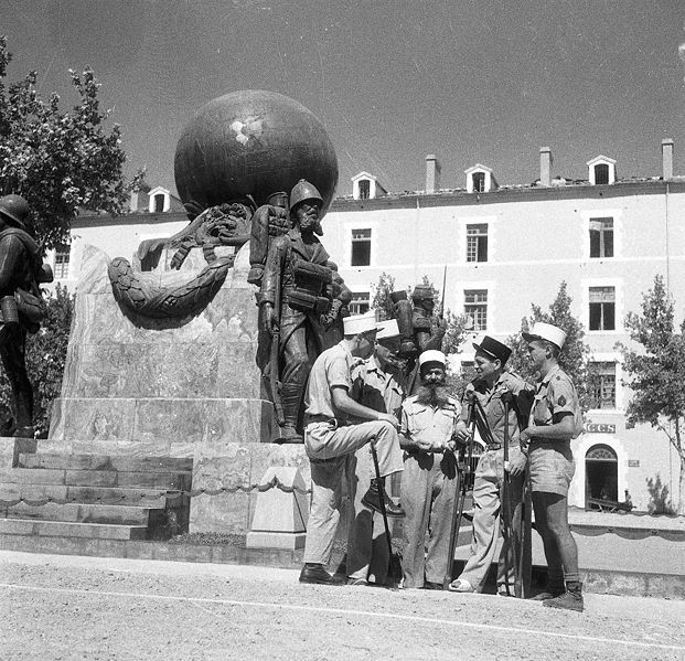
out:
<path id="1" fill-rule="evenodd" d="M 374 354 L 355 369 L 352 382 L 352 398 L 374 411 L 389 413 L 399 422 L 404 392 L 402 369 L 405 363 L 397 358 L 399 351 L 399 328 L 397 320 L 376 324 Z M 351 585 L 384 585 L 388 569 L 388 547 L 383 522 L 377 513 L 364 507 L 363 490 L 374 476 L 374 466 L 368 447 L 355 452 L 347 473 L 347 493 L 353 503 L 352 522 L 347 534 L 347 583 Z"/>

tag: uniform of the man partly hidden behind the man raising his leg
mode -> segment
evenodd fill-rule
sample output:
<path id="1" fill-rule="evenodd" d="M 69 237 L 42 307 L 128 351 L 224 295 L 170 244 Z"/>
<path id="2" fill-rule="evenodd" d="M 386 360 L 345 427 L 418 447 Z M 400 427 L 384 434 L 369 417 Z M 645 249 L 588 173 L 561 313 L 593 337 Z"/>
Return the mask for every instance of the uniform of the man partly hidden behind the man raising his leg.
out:
<path id="1" fill-rule="evenodd" d="M 374 411 L 395 414 L 399 420 L 404 392 L 395 375 L 382 370 L 375 356 L 372 355 L 354 370 L 352 382 L 350 395 L 353 399 Z M 347 468 L 347 493 L 352 500 L 347 577 L 351 580 L 371 579 L 383 585 L 389 559 L 383 521 L 381 514 L 362 504 L 365 484 L 375 477 L 370 448 L 358 449 Z"/>

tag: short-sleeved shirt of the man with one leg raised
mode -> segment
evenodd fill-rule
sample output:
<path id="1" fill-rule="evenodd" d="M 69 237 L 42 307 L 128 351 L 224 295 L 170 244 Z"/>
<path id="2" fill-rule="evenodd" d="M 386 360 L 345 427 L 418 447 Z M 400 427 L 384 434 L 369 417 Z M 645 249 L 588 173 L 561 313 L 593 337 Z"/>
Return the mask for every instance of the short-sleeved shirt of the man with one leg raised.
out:
<path id="1" fill-rule="evenodd" d="M 322 416 L 335 418 L 339 423 L 344 422 L 342 419 L 344 414 L 333 406 L 331 388 L 340 386 L 350 392 L 355 362 L 344 340 L 319 355 L 309 374 L 304 395 L 304 411 L 308 417 Z"/>

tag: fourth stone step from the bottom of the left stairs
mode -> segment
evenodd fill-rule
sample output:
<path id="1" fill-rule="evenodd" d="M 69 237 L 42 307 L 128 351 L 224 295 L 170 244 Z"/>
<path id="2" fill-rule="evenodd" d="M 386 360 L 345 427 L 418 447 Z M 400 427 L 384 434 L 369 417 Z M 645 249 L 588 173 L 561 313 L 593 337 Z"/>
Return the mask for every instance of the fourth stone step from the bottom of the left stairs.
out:
<path id="1" fill-rule="evenodd" d="M 65 484 L 190 490 L 190 472 L 140 472 L 116 470 L 64 470 L 57 468 L 9 468 L 0 470 L 0 484 Z"/>

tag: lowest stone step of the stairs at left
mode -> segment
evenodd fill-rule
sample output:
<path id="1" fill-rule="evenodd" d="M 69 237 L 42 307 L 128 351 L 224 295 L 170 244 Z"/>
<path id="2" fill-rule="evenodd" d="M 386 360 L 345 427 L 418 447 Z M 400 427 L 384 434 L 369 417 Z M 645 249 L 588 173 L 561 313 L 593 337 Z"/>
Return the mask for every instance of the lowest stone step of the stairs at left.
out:
<path id="1" fill-rule="evenodd" d="M 34 521 L 32 519 L 0 519 L 0 534 L 35 535 L 40 537 L 88 537 L 92 540 L 145 540 L 147 526 Z"/>

